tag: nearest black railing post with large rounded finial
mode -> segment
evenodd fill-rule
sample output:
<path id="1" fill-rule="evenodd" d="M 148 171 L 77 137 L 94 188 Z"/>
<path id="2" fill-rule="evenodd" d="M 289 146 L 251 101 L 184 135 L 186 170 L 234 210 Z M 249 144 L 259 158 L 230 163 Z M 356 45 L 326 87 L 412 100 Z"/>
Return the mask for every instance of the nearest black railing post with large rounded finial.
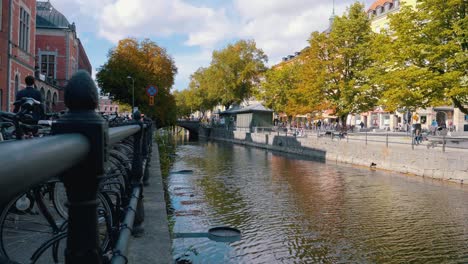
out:
<path id="1" fill-rule="evenodd" d="M 53 134 L 81 133 L 90 141 L 88 156 L 64 173 L 69 202 L 65 263 L 100 264 L 98 237 L 98 175 L 107 159 L 108 126 L 94 109 L 98 103 L 96 85 L 86 71 L 78 71 L 65 87 L 69 113 L 52 126 Z"/>

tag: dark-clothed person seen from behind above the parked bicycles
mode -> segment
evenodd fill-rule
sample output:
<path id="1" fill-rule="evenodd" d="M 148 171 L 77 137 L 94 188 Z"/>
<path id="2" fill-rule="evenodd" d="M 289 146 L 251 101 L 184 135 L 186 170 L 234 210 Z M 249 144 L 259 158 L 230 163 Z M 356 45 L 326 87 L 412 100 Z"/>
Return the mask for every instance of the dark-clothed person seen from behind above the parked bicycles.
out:
<path id="1" fill-rule="evenodd" d="M 14 113 L 18 113 L 22 106 L 24 106 L 24 100 L 26 98 L 32 98 L 36 102 L 30 104 L 30 109 L 28 111 L 31 113 L 33 119 L 37 122 L 44 116 L 44 109 L 42 106 L 42 95 L 41 93 L 34 88 L 34 77 L 31 75 L 26 76 L 24 79 L 26 82 L 26 88 L 19 91 L 16 94 L 16 102 Z M 21 102 L 21 103 L 19 103 Z"/>

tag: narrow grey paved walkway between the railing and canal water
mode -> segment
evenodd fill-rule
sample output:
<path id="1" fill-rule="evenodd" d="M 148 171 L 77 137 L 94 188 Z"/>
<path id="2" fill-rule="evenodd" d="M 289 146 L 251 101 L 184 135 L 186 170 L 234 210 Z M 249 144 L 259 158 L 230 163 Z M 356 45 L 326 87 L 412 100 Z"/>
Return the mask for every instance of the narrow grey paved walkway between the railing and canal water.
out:
<path id="1" fill-rule="evenodd" d="M 159 151 L 153 145 L 151 167 L 149 168 L 150 185 L 144 188 L 145 234 L 133 238 L 129 248 L 129 263 L 166 264 L 172 261 L 172 240 L 164 200 L 164 188 L 159 164 Z"/>

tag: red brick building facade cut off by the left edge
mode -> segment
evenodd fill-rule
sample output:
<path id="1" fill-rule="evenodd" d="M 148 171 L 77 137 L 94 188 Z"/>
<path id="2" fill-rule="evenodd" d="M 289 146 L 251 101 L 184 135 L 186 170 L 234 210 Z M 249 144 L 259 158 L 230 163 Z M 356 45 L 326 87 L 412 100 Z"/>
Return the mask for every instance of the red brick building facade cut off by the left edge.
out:
<path id="1" fill-rule="evenodd" d="M 1 0 L 0 7 L 0 109 L 11 110 L 15 94 L 34 74 L 35 0 Z M 9 106 L 9 107 L 8 107 Z"/>

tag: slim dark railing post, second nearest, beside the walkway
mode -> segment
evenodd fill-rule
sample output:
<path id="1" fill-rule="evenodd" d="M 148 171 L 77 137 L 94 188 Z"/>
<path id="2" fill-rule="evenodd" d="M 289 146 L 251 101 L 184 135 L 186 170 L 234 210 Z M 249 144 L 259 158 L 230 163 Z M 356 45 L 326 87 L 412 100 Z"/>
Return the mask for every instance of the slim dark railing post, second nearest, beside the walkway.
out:
<path id="1" fill-rule="evenodd" d="M 140 131 L 133 136 L 133 161 L 132 161 L 132 186 L 142 186 L 143 180 L 143 157 L 142 157 L 142 143 L 144 144 L 143 135 L 145 128 L 141 121 L 140 112 L 133 114 L 133 119 L 140 125 Z M 137 210 L 135 213 L 135 221 L 133 223 L 133 235 L 140 236 L 144 230 L 142 227 L 145 218 L 145 211 L 143 207 L 143 187 L 138 198 Z"/>

